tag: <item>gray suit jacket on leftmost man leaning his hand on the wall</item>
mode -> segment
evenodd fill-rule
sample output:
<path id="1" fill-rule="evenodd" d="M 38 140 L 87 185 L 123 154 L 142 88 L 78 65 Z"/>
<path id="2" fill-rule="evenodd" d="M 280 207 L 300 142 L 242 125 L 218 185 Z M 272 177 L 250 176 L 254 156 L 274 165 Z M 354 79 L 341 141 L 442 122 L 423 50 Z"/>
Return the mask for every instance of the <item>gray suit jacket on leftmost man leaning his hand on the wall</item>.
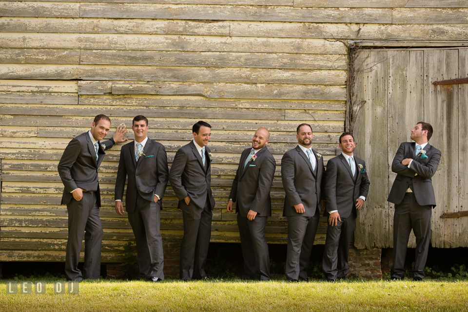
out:
<path id="1" fill-rule="evenodd" d="M 98 160 L 96 161 L 94 145 L 88 132 L 78 135 L 68 143 L 57 167 L 64 185 L 61 204 L 68 204 L 73 198 L 70 192 L 79 187 L 86 191 L 98 191 L 98 206 L 100 207 L 98 167 L 106 154 L 104 150 L 113 147 L 114 142 L 112 140 L 103 143 L 98 141 L 98 145 Z"/>

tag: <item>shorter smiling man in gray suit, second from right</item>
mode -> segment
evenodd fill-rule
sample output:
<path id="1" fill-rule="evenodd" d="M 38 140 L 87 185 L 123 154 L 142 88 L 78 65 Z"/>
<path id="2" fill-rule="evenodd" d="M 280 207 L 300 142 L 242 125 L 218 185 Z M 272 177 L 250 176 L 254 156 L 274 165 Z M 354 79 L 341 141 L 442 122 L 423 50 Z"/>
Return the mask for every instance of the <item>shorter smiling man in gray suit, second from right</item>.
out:
<path id="1" fill-rule="evenodd" d="M 356 225 L 356 209 L 361 209 L 364 204 L 370 185 L 366 163 L 353 154 L 356 145 L 352 134 L 343 132 L 339 142 L 341 154 L 328 161 L 325 182 L 327 209 L 324 214 L 329 224 L 322 269 L 328 281 L 348 279 L 348 255 Z"/>

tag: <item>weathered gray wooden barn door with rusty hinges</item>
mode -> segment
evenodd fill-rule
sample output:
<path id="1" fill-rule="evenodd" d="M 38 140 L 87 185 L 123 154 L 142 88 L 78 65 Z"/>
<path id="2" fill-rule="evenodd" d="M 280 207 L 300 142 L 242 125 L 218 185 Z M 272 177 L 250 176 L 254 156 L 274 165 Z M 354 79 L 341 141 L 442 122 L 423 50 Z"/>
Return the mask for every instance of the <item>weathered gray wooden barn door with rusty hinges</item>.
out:
<path id="1" fill-rule="evenodd" d="M 358 216 L 356 247 L 393 247 L 394 205 L 387 202 L 396 176 L 391 162 L 418 121 L 433 126 L 429 143 L 442 151 L 432 179 L 437 202 L 432 246 L 468 246 L 468 217 L 440 218 L 468 210 L 468 84 L 433 84 L 468 77 L 468 49 L 362 50 L 355 68 L 354 103 L 365 101 L 354 126 L 356 155 L 366 161 L 371 182 Z M 411 234 L 409 247 L 414 246 Z"/>

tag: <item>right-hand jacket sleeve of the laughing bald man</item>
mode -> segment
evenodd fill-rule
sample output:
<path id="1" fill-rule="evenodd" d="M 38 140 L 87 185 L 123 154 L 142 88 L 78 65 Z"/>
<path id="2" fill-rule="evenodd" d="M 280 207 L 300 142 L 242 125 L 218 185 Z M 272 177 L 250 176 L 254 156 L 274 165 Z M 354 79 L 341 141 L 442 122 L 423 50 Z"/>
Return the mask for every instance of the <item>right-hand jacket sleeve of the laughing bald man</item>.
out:
<path id="1" fill-rule="evenodd" d="M 267 157 L 263 160 L 258 175 L 258 188 L 255 193 L 254 202 L 252 202 L 251 210 L 256 213 L 261 213 L 263 206 L 270 195 L 272 189 L 274 170 L 276 169 L 276 161 L 273 156 Z"/>

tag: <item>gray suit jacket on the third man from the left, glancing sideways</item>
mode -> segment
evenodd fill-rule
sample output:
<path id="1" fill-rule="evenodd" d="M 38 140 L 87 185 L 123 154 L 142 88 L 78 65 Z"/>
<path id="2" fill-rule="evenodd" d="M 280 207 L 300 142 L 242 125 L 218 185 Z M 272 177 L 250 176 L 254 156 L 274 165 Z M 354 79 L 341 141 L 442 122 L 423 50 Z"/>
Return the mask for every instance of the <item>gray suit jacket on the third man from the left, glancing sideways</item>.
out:
<path id="1" fill-rule="evenodd" d="M 203 209 L 207 196 L 211 210 L 215 208 L 215 199 L 211 191 L 210 148 L 205 147 L 205 163 L 198 153 L 194 141 L 180 147 L 169 172 L 169 181 L 179 200 L 178 208 L 185 205 L 184 198 L 190 197 L 189 206 Z M 186 206 L 186 205 L 185 205 Z"/>

